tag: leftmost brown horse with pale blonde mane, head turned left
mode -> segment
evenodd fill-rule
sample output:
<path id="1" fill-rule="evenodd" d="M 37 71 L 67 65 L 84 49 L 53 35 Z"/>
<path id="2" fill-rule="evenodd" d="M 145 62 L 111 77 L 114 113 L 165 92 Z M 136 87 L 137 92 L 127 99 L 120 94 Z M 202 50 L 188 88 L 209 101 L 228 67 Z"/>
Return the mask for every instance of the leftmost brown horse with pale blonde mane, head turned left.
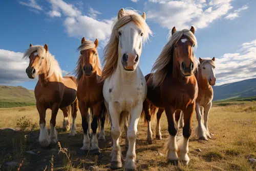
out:
<path id="1" fill-rule="evenodd" d="M 47 147 L 50 143 L 57 143 L 57 131 L 55 129 L 56 116 L 61 109 L 64 114 L 63 125 L 69 123 L 69 111 L 72 106 L 73 124 L 70 135 L 76 134 L 75 119 L 78 110 L 78 101 L 76 97 L 77 83 L 72 76 L 62 77 L 61 69 L 54 56 L 48 50 L 48 45 L 32 45 L 24 53 L 23 58 L 29 58 L 29 66 L 26 73 L 30 79 L 38 76 L 38 82 L 35 86 L 36 108 L 40 120 L 39 144 Z M 50 120 L 50 137 L 46 127 L 46 110 L 52 110 Z"/>

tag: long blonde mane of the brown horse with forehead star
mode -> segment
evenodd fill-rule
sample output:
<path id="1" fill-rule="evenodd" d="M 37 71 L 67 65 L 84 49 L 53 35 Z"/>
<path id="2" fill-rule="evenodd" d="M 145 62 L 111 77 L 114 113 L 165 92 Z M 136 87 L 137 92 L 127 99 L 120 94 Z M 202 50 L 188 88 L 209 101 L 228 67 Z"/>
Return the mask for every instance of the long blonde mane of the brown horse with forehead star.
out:
<path id="1" fill-rule="evenodd" d="M 185 36 L 190 41 L 192 41 L 195 44 L 195 47 L 197 47 L 197 39 L 195 35 L 187 29 L 184 29 L 182 31 L 176 31 L 172 36 L 169 37 L 168 42 L 163 47 L 163 50 L 157 60 L 155 61 L 152 72 L 155 72 L 153 74 L 153 86 L 157 87 L 159 86 L 164 78 L 166 77 L 168 71 L 173 68 L 173 66 L 169 66 L 173 62 L 173 55 L 174 55 L 174 45 L 180 40 L 182 36 Z M 196 60 L 196 57 L 194 56 L 195 64 L 194 66 L 198 66 L 198 60 Z M 196 69 L 196 68 L 195 68 Z"/>

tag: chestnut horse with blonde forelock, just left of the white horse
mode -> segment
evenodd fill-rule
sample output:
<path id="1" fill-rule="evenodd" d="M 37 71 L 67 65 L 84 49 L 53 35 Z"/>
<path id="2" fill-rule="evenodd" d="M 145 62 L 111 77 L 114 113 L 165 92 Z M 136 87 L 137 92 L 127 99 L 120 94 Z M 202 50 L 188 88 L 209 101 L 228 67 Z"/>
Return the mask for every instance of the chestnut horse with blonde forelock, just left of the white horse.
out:
<path id="1" fill-rule="evenodd" d="M 99 140 L 105 140 L 104 122 L 105 122 L 105 105 L 102 94 L 103 83 L 99 82 L 101 77 L 101 65 L 97 52 L 98 40 L 94 42 L 86 40 L 84 37 L 81 40 L 81 45 L 77 48 L 80 51 L 80 56 L 75 68 L 77 77 L 77 99 L 78 106 L 82 116 L 83 129 L 83 146 L 81 150 L 90 151 L 92 154 L 100 153 L 97 128 L 98 123 L 101 124 Z M 93 115 L 90 127 L 90 115 Z M 92 146 L 90 147 L 90 130 L 92 134 Z"/>

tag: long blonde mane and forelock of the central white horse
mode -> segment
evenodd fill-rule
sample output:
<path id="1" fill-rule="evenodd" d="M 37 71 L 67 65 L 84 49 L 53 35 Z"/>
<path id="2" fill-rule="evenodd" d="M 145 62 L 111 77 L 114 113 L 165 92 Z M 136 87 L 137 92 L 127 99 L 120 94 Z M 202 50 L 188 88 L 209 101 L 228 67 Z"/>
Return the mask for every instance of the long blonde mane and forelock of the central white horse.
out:
<path id="1" fill-rule="evenodd" d="M 134 21 L 136 25 L 143 30 L 143 44 L 148 40 L 149 35 L 152 35 L 150 27 L 148 27 L 145 20 L 137 13 L 137 11 L 124 10 L 124 15 L 113 23 L 110 39 L 104 48 L 104 56 L 102 59 L 104 68 L 101 75 L 101 81 L 110 77 L 117 68 L 119 43 L 118 29 L 131 21 Z"/>

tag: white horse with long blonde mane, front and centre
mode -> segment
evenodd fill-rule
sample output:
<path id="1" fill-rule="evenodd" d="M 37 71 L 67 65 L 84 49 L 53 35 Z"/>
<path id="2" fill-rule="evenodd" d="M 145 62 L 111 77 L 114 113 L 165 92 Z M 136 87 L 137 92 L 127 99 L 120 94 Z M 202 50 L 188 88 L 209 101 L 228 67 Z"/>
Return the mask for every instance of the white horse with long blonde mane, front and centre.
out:
<path id="1" fill-rule="evenodd" d="M 111 168 L 122 167 L 119 137 L 125 127 L 129 148 L 125 169 L 136 169 L 135 142 L 137 126 L 146 96 L 146 82 L 138 66 L 142 44 L 152 34 L 145 22 L 146 15 L 120 9 L 110 40 L 104 48 L 101 81 L 106 109 L 111 118 Z"/>

